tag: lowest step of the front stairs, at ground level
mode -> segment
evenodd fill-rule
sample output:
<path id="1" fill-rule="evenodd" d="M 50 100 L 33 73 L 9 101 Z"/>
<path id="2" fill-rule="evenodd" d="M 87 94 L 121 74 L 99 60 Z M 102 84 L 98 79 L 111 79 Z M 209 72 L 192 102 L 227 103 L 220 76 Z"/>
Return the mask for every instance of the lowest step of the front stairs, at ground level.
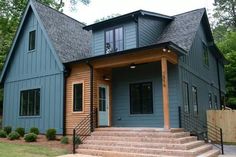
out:
<path id="1" fill-rule="evenodd" d="M 104 151 L 104 150 L 94 150 L 94 149 L 78 149 L 77 153 L 95 155 L 102 157 L 176 157 L 176 156 L 167 156 L 167 155 L 153 155 L 153 154 L 142 154 L 142 153 L 127 153 L 119 151 Z M 181 156 L 179 156 L 181 157 Z"/>

